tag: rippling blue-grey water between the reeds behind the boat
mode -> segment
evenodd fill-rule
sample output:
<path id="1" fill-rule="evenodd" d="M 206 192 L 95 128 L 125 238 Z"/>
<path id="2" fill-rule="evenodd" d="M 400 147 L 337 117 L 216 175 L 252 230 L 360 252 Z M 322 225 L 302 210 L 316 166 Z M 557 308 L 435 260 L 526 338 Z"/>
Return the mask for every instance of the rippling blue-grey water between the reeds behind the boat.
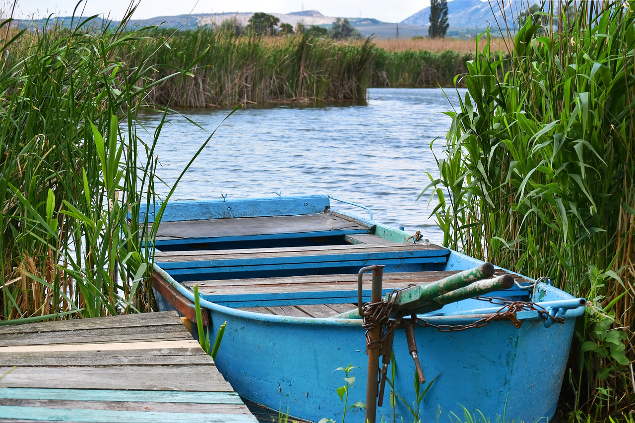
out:
<path id="1" fill-rule="evenodd" d="M 456 91 L 448 97 L 457 98 Z M 157 146 L 158 174 L 171 186 L 217 129 L 173 200 L 328 194 L 370 207 L 378 222 L 440 242 L 443 234 L 429 218 L 434 205 L 427 195 L 417 198 L 429 184 L 426 171 L 438 175 L 430 143 L 441 138 L 434 152 L 443 157 L 450 126 L 443 112 L 450 107 L 441 89 L 373 88 L 364 104 L 249 108 L 225 121 L 226 110 L 185 110 L 203 129 L 171 116 Z M 158 119 L 142 117 L 150 131 Z M 159 194 L 167 194 L 167 185 Z M 359 208 L 335 208 L 368 217 Z"/>

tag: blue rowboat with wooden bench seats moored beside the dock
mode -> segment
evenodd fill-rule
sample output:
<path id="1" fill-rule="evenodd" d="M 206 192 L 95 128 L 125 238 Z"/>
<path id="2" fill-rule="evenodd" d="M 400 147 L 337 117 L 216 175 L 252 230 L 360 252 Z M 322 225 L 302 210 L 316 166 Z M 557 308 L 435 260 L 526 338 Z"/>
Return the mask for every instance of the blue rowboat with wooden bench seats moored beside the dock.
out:
<path id="1" fill-rule="evenodd" d="M 211 337 L 227 322 L 216 364 L 237 393 L 316 422 L 342 420 L 337 389 L 347 382 L 337 368 L 358 367 L 349 374 L 347 405 L 366 400 L 366 330 L 359 318 L 333 318 L 356 309 L 361 267 L 383 265 L 382 295 L 391 297 L 396 288 L 483 264 L 372 217 L 333 210 L 328 196 L 185 201 L 161 210 L 153 275 L 159 307 L 194 320 L 198 285 Z M 405 331 L 394 330 L 377 421 L 408 422 L 415 414 L 447 421 L 464 410 L 492 421 L 554 416 L 585 301 L 495 272 L 512 274 L 514 286 L 416 314 L 423 384 Z M 361 295 L 368 302 L 370 282 Z M 363 417 L 358 408 L 347 413 L 351 421 Z"/>

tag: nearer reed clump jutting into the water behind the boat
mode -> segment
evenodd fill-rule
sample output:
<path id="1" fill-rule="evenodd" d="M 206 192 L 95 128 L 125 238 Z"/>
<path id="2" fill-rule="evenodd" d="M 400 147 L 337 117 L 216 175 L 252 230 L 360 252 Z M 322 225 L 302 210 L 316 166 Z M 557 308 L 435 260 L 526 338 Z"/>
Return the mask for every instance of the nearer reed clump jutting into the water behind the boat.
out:
<path id="1" fill-rule="evenodd" d="M 157 46 L 156 77 L 204 50 L 189 78 L 164 81 L 149 99 L 164 104 L 173 95 L 172 105 L 182 107 L 363 99 L 374 52 L 370 41 L 347 46 L 304 35 L 273 43 L 203 27 L 171 34 L 169 46 Z"/>

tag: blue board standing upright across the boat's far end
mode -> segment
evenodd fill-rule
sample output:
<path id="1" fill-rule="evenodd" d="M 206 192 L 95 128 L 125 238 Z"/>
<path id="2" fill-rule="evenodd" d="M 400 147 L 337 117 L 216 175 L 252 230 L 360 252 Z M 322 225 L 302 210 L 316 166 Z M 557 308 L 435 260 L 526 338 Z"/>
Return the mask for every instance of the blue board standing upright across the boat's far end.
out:
<path id="1" fill-rule="evenodd" d="M 229 217 L 291 216 L 323 213 L 329 206 L 328 196 L 303 196 L 290 198 L 228 199 L 227 201 L 177 201 L 168 203 L 161 222 L 177 220 L 203 220 Z M 161 207 L 154 205 L 147 215 L 148 222 Z M 144 222 L 145 213 L 140 221 Z"/>

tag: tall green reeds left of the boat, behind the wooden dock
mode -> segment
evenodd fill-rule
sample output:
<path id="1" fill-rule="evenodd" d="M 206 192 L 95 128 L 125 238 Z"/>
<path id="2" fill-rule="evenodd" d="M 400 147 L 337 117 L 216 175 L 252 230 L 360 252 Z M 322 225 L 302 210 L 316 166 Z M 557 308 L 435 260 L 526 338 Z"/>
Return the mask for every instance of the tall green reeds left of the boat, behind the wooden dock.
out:
<path id="1" fill-rule="evenodd" d="M 132 12 L 115 27 L 0 24 L 0 319 L 150 308 L 154 229 L 138 216 L 161 125 L 144 144 L 137 113 L 161 81 L 149 29 L 124 32 Z"/>

